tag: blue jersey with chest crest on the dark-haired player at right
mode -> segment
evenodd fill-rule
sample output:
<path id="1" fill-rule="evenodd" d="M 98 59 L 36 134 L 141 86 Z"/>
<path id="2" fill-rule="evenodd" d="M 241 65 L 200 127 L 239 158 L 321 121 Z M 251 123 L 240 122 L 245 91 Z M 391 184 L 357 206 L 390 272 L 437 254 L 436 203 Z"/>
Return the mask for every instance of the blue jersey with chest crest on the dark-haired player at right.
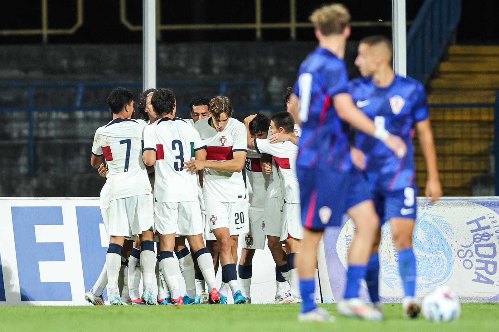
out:
<path id="1" fill-rule="evenodd" d="M 348 91 L 353 101 L 377 127 L 384 127 L 407 145 L 407 155 L 398 159 L 381 141 L 357 133 L 355 147 L 366 156 L 366 174 L 374 190 L 401 190 L 415 185 L 414 124 L 428 119 L 426 92 L 419 81 L 395 76 L 385 88 L 376 86 L 370 77 L 352 80 Z"/>

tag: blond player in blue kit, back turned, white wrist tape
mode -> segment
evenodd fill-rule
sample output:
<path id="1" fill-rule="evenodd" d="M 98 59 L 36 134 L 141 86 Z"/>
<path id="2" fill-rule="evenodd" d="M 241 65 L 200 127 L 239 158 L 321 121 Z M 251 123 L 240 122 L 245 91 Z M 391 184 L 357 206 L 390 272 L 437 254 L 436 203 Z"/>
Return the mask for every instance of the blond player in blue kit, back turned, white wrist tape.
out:
<path id="1" fill-rule="evenodd" d="M 379 312 L 358 299 L 379 220 L 367 182 L 350 159 L 348 124 L 384 142 L 399 157 L 404 156 L 406 146 L 386 129 L 376 128 L 348 94 L 342 60 L 350 35 L 346 7 L 324 5 L 312 13 L 310 20 L 319 46 L 302 62 L 289 100 L 289 112 L 302 128 L 296 161 L 304 226 L 296 260 L 303 298 L 298 319 L 331 320 L 327 311 L 315 305 L 315 258 L 324 229 L 340 225 L 347 212 L 355 222 L 356 232 L 348 253 L 344 300 L 336 308 L 346 316 L 380 320 Z"/>

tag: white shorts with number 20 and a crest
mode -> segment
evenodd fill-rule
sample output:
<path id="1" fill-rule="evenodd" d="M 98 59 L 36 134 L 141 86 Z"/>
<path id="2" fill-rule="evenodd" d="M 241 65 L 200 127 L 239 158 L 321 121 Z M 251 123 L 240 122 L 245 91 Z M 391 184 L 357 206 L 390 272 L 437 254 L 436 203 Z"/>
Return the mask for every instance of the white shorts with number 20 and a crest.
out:
<path id="1" fill-rule="evenodd" d="M 217 202 L 205 199 L 206 223 L 210 231 L 217 228 L 229 228 L 231 236 L 248 233 L 248 202 Z"/>

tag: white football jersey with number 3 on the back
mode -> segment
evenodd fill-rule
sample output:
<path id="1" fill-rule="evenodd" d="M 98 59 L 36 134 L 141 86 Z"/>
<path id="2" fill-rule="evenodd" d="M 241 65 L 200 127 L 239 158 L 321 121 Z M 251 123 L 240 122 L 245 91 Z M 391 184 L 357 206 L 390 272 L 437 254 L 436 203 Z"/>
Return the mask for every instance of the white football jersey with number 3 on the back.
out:
<path id="1" fill-rule="evenodd" d="M 144 130 L 144 151 L 156 151 L 154 197 L 160 203 L 198 200 L 198 176 L 184 169 L 194 152 L 206 149 L 199 133 L 180 118 L 163 118 Z"/>

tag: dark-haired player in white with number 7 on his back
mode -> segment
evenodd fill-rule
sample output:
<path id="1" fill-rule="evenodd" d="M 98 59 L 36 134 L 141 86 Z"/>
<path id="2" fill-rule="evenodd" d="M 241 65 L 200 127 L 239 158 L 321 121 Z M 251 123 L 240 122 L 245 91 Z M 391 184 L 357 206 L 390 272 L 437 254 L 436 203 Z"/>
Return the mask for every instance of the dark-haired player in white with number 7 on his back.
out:
<path id="1" fill-rule="evenodd" d="M 140 259 L 143 266 L 142 300 L 157 304 L 152 295 L 154 280 L 153 202 L 151 184 L 142 161 L 143 120 L 131 119 L 133 95 L 123 88 L 114 89 L 108 97 L 113 121 L 95 132 L 91 165 L 97 168 L 105 158 L 109 168 L 109 235 L 106 271 L 111 305 L 124 305 L 118 292 L 121 251 L 125 237 L 139 234 Z"/>

